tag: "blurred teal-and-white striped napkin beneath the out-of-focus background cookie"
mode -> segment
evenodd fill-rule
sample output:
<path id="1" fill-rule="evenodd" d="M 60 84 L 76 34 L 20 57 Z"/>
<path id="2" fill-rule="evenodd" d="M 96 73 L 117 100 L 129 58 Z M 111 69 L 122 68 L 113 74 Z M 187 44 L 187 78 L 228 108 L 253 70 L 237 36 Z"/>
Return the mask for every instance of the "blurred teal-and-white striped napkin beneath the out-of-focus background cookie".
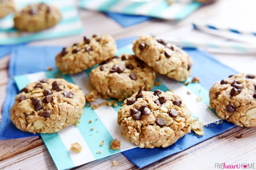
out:
<path id="1" fill-rule="evenodd" d="M 26 43 L 34 40 L 50 39 L 61 36 L 75 35 L 83 32 L 82 23 L 73 0 L 16 0 L 18 10 L 31 3 L 47 3 L 59 8 L 61 20 L 53 28 L 44 31 L 29 33 L 19 32 L 14 28 L 14 14 L 0 19 L 0 45 Z"/>

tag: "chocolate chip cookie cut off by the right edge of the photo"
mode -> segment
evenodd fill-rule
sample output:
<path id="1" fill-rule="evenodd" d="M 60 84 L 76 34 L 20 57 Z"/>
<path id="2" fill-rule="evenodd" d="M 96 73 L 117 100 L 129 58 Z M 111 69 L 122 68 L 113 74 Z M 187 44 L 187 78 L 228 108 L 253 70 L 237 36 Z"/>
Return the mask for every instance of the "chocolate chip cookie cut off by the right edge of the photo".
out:
<path id="1" fill-rule="evenodd" d="M 230 75 L 210 89 L 210 106 L 221 119 L 238 126 L 256 126 L 256 75 Z"/>

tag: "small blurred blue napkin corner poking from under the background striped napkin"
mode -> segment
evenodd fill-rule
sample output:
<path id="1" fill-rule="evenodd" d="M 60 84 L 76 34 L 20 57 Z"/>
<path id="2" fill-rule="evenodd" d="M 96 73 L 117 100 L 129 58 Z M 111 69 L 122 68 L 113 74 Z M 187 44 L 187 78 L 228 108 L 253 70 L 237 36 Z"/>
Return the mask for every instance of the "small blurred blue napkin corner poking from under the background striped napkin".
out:
<path id="1" fill-rule="evenodd" d="M 110 18 L 115 20 L 117 23 L 119 23 L 123 27 L 129 27 L 132 25 L 143 23 L 151 19 L 151 17 L 148 17 L 148 16 L 127 15 L 127 14 L 121 14 L 121 13 L 115 13 L 115 12 L 106 12 L 106 15 L 108 15 Z"/>

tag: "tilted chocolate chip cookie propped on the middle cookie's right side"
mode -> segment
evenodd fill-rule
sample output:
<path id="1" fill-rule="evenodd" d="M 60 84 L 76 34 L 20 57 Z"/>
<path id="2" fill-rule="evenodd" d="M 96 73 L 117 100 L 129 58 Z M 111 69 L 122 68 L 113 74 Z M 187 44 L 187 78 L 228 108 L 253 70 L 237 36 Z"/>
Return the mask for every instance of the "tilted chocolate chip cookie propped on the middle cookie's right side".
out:
<path id="1" fill-rule="evenodd" d="M 174 44 L 155 37 L 141 35 L 133 42 L 133 52 L 160 74 L 177 81 L 184 81 L 191 74 L 192 60 Z"/>

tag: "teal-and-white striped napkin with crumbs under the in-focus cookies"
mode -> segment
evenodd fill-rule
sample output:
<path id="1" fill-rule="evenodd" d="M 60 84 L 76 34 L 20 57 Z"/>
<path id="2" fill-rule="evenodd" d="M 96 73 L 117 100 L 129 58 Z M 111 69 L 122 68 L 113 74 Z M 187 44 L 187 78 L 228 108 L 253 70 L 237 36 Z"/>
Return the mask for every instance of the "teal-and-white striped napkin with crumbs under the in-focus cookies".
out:
<path id="1" fill-rule="evenodd" d="M 133 54 L 131 47 L 132 45 L 121 48 L 118 51 L 118 55 L 123 53 Z M 27 83 L 35 82 L 39 79 L 62 76 L 68 82 L 78 84 L 84 93 L 87 94 L 91 89 L 89 83 L 90 71 L 91 68 L 74 75 L 61 75 L 58 70 L 53 70 L 19 75 L 15 76 L 14 79 L 18 88 L 22 89 Z M 189 80 L 190 78 L 187 81 Z M 219 120 L 215 113 L 207 107 L 209 104 L 208 91 L 199 83 L 190 83 L 185 86 L 183 83 L 171 80 L 164 75 L 157 75 L 157 81 L 161 81 L 162 83 L 160 86 L 154 86 L 152 91 L 156 89 L 162 91 L 173 90 L 187 104 L 193 117 L 198 117 L 204 124 Z M 188 91 L 191 92 L 190 95 L 187 94 Z M 196 101 L 198 96 L 202 96 L 202 101 Z M 104 99 L 97 99 L 95 103 L 104 101 Z M 117 126 L 117 112 L 120 107 L 121 102 L 118 102 L 117 107 L 100 106 L 95 110 L 86 106 L 84 107 L 84 113 L 77 127 L 72 125 L 56 134 L 41 134 L 57 168 L 69 169 L 137 147 L 125 140 Z M 91 123 L 89 123 L 90 120 L 92 121 Z M 91 127 L 94 130 L 91 130 Z M 121 148 L 117 151 L 110 150 L 109 148 L 110 142 L 115 138 L 121 141 Z M 100 146 L 101 141 L 104 141 L 103 146 Z M 74 142 L 82 145 L 82 152 L 74 153 L 70 150 L 71 143 Z"/>

